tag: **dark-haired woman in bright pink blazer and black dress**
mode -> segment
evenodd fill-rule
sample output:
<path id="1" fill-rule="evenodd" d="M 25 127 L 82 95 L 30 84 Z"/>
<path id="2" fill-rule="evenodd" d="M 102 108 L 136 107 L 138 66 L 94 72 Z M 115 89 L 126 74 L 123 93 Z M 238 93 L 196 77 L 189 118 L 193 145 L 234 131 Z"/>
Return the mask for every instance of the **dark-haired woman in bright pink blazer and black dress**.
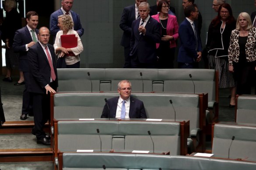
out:
<path id="1" fill-rule="evenodd" d="M 161 0 L 157 5 L 159 14 L 151 16 L 161 25 L 161 42 L 156 43 L 158 69 L 173 69 L 175 41 L 179 37 L 177 18 L 174 15 L 168 14 L 168 10 L 168 1 Z"/>

